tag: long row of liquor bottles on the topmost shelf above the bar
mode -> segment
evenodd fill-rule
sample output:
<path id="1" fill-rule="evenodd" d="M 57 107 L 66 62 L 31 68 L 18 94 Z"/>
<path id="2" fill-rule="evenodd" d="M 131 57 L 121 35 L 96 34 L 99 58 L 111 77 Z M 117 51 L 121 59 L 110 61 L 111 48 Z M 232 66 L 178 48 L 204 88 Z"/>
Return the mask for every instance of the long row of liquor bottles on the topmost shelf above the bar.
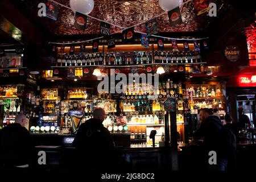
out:
<path id="1" fill-rule="evenodd" d="M 141 64 L 202 64 L 200 51 L 130 51 L 94 52 L 69 55 L 59 53 L 56 65 L 59 67 L 76 67 L 89 65 L 141 65 Z"/>

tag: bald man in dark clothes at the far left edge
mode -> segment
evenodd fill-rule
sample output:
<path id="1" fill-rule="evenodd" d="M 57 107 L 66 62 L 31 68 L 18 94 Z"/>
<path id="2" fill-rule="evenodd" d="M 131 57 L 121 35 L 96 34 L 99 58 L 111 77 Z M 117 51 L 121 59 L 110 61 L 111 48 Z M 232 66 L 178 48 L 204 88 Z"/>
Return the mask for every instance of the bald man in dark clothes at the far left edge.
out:
<path id="1" fill-rule="evenodd" d="M 30 134 L 24 127 L 27 118 L 24 114 L 16 115 L 15 123 L 0 130 L 0 165 L 7 169 L 24 169 L 30 163 Z"/>

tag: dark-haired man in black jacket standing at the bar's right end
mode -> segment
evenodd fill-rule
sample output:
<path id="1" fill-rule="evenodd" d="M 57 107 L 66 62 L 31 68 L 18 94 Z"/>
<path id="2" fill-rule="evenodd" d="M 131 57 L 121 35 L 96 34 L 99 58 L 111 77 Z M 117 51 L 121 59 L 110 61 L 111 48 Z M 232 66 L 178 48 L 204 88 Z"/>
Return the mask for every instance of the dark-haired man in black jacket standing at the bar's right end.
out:
<path id="1" fill-rule="evenodd" d="M 224 171 L 228 159 L 221 154 L 220 146 L 220 131 L 223 129 L 222 122 L 220 118 L 216 115 L 212 115 L 210 109 L 200 110 L 200 122 L 201 125 L 195 133 L 193 133 L 193 138 L 195 140 L 204 137 L 204 148 L 205 148 L 205 162 L 208 170 Z M 215 151 L 217 154 L 217 164 L 209 164 L 209 152 Z"/>

